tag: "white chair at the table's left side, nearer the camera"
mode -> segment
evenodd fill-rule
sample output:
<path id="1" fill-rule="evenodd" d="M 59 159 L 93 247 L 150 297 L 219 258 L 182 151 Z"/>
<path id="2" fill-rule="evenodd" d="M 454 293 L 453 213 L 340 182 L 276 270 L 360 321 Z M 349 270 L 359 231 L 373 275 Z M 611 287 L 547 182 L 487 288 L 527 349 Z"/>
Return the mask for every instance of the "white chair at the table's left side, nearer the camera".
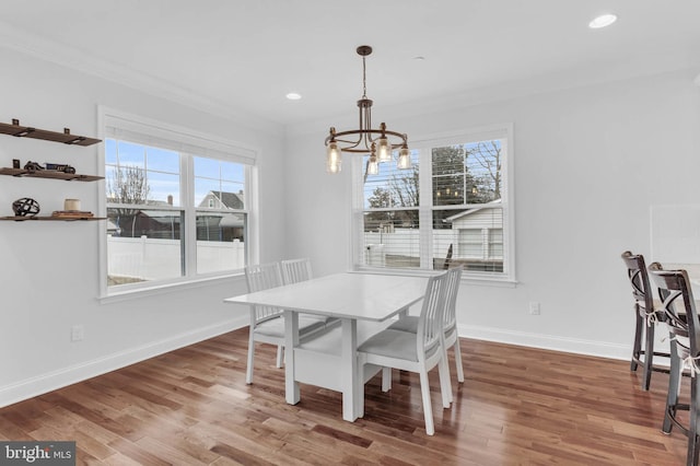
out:
<path id="1" fill-rule="evenodd" d="M 248 292 L 262 291 L 282 286 L 282 272 L 278 263 L 248 266 L 245 268 Z M 325 328 L 324 319 L 315 316 L 299 316 L 300 337 L 305 337 Z M 282 366 L 284 351 L 284 310 L 279 307 L 253 305 L 250 307 L 250 330 L 248 337 L 248 366 L 246 384 L 253 383 L 255 342 L 277 345 L 277 366 Z"/>

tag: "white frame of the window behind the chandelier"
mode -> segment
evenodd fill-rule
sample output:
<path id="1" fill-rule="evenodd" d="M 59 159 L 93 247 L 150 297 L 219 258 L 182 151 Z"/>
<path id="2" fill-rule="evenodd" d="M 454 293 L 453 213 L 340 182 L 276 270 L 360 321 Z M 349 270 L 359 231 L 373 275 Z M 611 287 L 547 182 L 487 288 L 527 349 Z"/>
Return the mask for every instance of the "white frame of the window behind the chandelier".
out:
<path id="1" fill-rule="evenodd" d="M 419 248 L 420 248 L 420 268 L 385 268 L 364 265 L 362 255 L 364 253 L 364 223 L 363 215 L 369 211 L 380 210 L 407 210 L 411 208 L 386 208 L 386 209 L 365 209 L 364 194 L 362 186 L 363 163 L 362 156 L 352 159 L 352 252 L 351 264 L 353 270 L 377 273 L 396 273 L 396 275 L 427 275 L 434 271 L 433 261 L 439 257 L 433 257 L 433 234 L 432 234 L 432 212 L 434 210 L 452 210 L 469 208 L 492 207 L 488 203 L 467 203 L 457 206 L 434 206 L 432 198 L 433 174 L 432 174 L 432 149 L 442 148 L 453 144 L 466 144 L 476 141 L 486 141 L 500 139 L 503 148 L 503 160 L 501 161 L 502 176 L 502 198 L 501 206 L 503 212 L 502 224 L 502 242 L 499 245 L 503 249 L 503 272 L 480 272 L 467 271 L 463 273 L 463 281 L 474 281 L 483 284 L 504 284 L 515 286 L 515 222 L 514 222 L 514 188 L 513 188 L 513 125 L 495 124 L 480 127 L 471 127 L 463 131 L 453 131 L 435 135 L 427 135 L 410 141 L 411 150 L 419 150 L 419 193 L 420 206 L 419 211 Z M 382 168 L 380 168 L 381 171 Z M 490 237 L 490 234 L 488 235 Z M 486 238 L 487 254 L 491 255 L 491 241 Z"/>

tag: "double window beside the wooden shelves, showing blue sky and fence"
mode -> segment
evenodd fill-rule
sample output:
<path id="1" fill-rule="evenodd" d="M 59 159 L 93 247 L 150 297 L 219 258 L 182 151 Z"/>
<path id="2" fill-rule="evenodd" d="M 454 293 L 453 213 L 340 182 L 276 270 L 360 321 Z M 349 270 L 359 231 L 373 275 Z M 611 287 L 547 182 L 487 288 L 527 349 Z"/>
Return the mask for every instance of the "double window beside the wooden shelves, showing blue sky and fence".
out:
<path id="1" fill-rule="evenodd" d="M 103 294 L 243 269 L 255 153 L 114 110 L 103 119 Z"/>

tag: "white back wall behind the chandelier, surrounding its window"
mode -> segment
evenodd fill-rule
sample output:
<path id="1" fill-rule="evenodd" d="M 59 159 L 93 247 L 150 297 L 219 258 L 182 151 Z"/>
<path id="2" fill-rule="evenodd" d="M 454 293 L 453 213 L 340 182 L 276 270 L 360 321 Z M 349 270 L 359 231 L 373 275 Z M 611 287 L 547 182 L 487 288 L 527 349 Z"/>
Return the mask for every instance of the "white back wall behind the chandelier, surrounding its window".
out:
<path id="1" fill-rule="evenodd" d="M 418 115 L 409 115 L 408 106 L 394 116 L 377 117 L 375 110 L 374 121 L 386 120 L 413 139 L 513 123 L 518 283 L 464 284 L 462 336 L 629 357 L 633 317 L 620 254 L 650 256 L 653 203 L 700 203 L 696 74 L 650 75 Z M 347 110 L 354 117 L 352 104 Z M 328 118 L 291 128 L 285 159 L 287 254 L 311 257 L 324 273 L 351 266 L 350 173 L 324 172 L 327 127 L 354 125 L 341 123 Z M 530 301 L 541 303 L 541 315 L 529 315 Z"/>

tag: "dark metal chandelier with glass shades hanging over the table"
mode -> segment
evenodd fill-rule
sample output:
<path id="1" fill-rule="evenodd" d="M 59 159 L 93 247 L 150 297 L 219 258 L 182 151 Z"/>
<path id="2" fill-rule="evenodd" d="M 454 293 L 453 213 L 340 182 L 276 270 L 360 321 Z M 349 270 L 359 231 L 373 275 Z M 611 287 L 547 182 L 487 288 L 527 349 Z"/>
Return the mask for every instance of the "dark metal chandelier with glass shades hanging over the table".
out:
<path id="1" fill-rule="evenodd" d="M 360 128 L 347 131 L 336 131 L 330 128 L 326 138 L 326 171 L 328 173 L 340 172 L 341 153 L 369 154 L 366 175 L 380 173 L 380 163 L 392 160 L 394 149 L 400 149 L 396 166 L 405 170 L 411 167 L 411 154 L 408 150 L 408 136 L 386 129 L 382 123 L 378 129 L 372 128 L 372 101 L 368 98 L 365 77 L 365 58 L 372 54 L 372 47 L 361 45 L 358 55 L 362 57 L 362 97 L 358 101 L 360 109 Z"/>

